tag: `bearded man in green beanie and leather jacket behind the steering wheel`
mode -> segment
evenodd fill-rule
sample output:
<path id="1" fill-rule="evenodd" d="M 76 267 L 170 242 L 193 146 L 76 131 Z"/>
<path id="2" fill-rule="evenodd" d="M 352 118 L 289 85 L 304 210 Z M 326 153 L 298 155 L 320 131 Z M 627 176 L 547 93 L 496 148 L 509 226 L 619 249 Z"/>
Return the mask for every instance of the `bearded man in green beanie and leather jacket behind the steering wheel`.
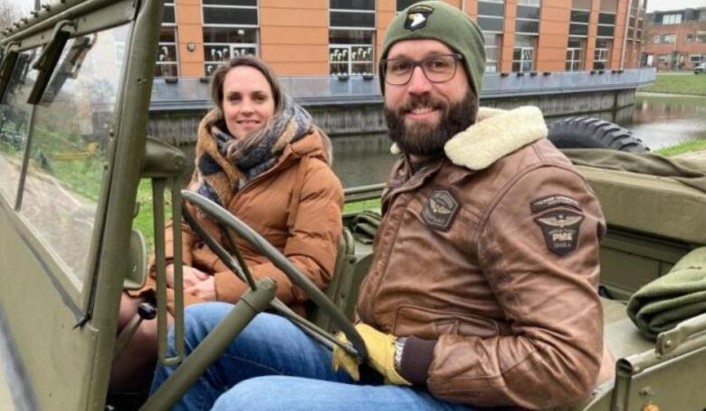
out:
<path id="1" fill-rule="evenodd" d="M 179 406 L 547 408 L 580 403 L 610 376 L 596 294 L 604 219 L 545 138 L 539 109 L 478 110 L 482 32 L 442 2 L 398 14 L 381 58 L 389 135 L 403 156 L 356 326 L 379 375 L 356 382 L 342 350 L 333 360 L 347 372 L 332 370 L 328 349 L 260 314 Z M 190 309 L 186 345 L 229 310 Z M 156 386 L 170 372 L 158 369 Z"/>

